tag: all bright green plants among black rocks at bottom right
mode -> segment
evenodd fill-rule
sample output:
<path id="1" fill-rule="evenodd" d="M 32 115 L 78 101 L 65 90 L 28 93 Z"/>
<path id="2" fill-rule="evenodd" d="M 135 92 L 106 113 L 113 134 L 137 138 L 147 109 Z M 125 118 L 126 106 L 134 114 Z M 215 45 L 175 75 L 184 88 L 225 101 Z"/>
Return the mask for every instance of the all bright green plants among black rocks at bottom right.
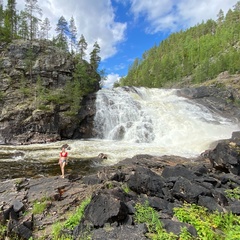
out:
<path id="1" fill-rule="evenodd" d="M 179 236 L 166 232 L 162 227 L 159 214 L 148 203 L 137 203 L 135 222 L 145 223 L 146 236 L 153 240 L 239 240 L 240 216 L 232 213 L 209 212 L 206 208 L 185 203 L 174 208 L 174 216 L 184 223 L 191 224 L 197 230 L 197 237 L 182 228 Z"/>

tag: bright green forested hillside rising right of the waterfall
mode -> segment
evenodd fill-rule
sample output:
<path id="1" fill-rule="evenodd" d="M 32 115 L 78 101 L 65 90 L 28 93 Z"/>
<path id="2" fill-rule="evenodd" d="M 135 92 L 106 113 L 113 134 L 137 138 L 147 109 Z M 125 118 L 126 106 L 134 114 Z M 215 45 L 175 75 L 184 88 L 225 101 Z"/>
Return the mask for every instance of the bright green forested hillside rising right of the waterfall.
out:
<path id="1" fill-rule="evenodd" d="M 171 34 L 159 46 L 136 58 L 120 85 L 170 87 L 201 83 L 219 73 L 240 72 L 240 1 L 217 20 Z M 117 85 L 117 84 L 115 84 Z"/>

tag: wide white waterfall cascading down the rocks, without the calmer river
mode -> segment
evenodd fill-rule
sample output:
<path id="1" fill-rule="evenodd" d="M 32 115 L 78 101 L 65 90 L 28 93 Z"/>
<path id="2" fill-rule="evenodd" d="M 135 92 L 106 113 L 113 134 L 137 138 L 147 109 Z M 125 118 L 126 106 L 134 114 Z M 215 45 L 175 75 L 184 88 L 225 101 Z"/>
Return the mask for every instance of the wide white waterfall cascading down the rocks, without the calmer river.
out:
<path id="1" fill-rule="evenodd" d="M 176 90 L 103 89 L 98 92 L 96 109 L 98 137 L 126 147 L 139 143 L 137 147 L 148 148 L 149 154 L 197 155 L 239 130 L 237 123 L 178 97 Z"/>

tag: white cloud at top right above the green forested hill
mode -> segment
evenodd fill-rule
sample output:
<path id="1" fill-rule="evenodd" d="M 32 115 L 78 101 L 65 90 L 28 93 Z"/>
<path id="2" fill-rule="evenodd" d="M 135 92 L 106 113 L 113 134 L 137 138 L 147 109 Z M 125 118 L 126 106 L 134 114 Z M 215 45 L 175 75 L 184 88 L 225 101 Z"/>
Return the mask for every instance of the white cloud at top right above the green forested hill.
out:
<path id="1" fill-rule="evenodd" d="M 159 31 L 174 32 L 193 26 L 202 20 L 216 19 L 219 10 L 227 11 L 236 0 L 130 0 L 131 12 L 135 19 L 143 17 L 148 33 Z"/>

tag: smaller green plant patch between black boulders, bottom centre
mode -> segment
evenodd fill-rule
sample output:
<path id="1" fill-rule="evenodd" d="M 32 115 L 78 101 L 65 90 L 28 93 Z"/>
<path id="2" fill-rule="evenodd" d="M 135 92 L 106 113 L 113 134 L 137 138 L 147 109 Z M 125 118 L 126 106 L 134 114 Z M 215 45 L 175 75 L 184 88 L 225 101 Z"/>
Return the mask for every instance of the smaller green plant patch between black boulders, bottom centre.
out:
<path id="1" fill-rule="evenodd" d="M 148 203 L 145 203 L 144 205 L 137 203 L 135 205 L 135 209 L 136 212 L 134 215 L 134 219 L 137 223 L 145 223 L 147 225 L 149 231 L 148 237 L 150 239 L 178 239 L 176 235 L 174 235 L 173 233 L 167 233 L 163 229 L 158 213 L 152 207 L 150 207 Z"/>

